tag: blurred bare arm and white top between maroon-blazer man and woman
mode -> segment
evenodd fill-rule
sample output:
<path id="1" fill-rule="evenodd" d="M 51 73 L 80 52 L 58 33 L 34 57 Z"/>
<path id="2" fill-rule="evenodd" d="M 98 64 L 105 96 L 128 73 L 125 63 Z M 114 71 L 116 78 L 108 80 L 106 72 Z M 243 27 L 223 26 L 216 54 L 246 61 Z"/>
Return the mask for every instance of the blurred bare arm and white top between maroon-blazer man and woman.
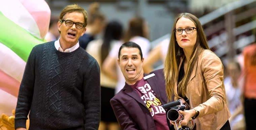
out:
<path id="1" fill-rule="evenodd" d="M 149 73 L 153 71 L 153 65 L 162 60 L 162 63 L 165 61 L 165 57 L 167 54 L 168 46 L 170 43 L 170 38 L 163 40 L 157 45 L 150 53 L 149 56 L 144 60 L 143 70 L 145 73 Z"/>

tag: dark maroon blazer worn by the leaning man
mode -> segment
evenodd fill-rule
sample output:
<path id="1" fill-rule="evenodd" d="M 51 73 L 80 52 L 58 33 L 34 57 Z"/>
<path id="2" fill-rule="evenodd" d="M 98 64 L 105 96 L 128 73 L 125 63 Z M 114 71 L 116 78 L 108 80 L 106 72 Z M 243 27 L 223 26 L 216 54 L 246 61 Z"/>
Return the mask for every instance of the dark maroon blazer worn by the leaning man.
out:
<path id="1" fill-rule="evenodd" d="M 165 92 L 163 69 L 155 70 L 152 73 L 155 76 L 146 80 L 156 93 L 156 97 L 164 105 L 167 103 L 167 95 Z M 149 74 L 145 74 L 144 76 L 147 75 Z M 154 119 L 147 109 L 146 104 L 129 85 L 125 84 L 124 88 L 110 100 L 110 104 L 121 129 L 156 130 Z"/>

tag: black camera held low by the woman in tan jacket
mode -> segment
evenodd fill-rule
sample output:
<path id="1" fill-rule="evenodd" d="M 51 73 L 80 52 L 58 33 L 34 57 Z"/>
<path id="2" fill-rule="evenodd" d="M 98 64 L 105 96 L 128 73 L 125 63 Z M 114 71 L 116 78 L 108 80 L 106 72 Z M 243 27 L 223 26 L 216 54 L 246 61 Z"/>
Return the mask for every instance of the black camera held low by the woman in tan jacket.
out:
<path id="1" fill-rule="evenodd" d="M 177 101 L 164 104 L 163 108 L 166 110 L 167 119 L 169 121 L 175 123 L 176 128 L 178 128 L 179 130 L 190 130 L 194 127 L 194 126 L 187 127 L 187 126 L 180 125 L 180 122 L 184 119 L 184 117 L 179 112 L 179 110 L 181 110 L 181 111 L 189 110 L 189 106 L 186 103 L 183 104 L 182 100 L 179 99 Z M 179 126 L 178 126 L 177 122 L 179 123 Z"/>

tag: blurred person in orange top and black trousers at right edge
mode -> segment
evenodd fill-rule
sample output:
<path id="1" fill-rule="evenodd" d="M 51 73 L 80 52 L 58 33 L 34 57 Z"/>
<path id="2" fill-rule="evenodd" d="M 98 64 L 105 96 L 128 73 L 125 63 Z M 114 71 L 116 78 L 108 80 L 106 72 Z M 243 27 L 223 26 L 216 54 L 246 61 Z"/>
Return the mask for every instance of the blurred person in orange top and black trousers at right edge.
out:
<path id="1" fill-rule="evenodd" d="M 256 117 L 256 43 L 246 47 L 244 54 L 245 85 L 244 107 L 247 130 L 255 130 Z"/>

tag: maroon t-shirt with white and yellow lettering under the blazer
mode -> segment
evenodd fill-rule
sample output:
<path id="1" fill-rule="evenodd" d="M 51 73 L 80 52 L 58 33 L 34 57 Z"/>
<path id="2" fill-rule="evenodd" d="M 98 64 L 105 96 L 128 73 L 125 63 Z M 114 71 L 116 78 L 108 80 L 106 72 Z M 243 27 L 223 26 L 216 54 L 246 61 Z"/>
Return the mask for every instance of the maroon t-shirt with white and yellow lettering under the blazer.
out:
<path id="1" fill-rule="evenodd" d="M 154 119 L 157 130 L 169 130 L 169 127 L 166 122 L 165 110 L 161 101 L 156 97 L 154 90 L 145 79 L 137 81 L 131 87 L 136 90 L 143 102 L 146 104 L 146 107 L 149 109 L 152 118 Z"/>

